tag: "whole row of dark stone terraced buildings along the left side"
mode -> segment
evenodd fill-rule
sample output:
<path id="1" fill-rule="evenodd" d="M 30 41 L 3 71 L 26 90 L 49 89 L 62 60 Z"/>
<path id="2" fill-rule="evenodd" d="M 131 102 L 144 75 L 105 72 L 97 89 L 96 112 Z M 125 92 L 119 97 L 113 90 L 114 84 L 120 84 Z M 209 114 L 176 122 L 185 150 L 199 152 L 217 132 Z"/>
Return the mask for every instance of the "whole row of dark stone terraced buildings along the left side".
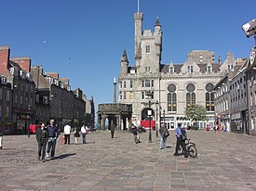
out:
<path id="1" fill-rule="evenodd" d="M 59 73 L 31 67 L 30 57 L 10 58 L 9 46 L 0 46 L 0 80 L 0 120 L 6 134 L 29 135 L 31 124 L 50 119 L 60 128 L 66 122 L 80 125 L 88 114 L 86 103 L 93 104 L 79 88 L 72 91 Z"/>

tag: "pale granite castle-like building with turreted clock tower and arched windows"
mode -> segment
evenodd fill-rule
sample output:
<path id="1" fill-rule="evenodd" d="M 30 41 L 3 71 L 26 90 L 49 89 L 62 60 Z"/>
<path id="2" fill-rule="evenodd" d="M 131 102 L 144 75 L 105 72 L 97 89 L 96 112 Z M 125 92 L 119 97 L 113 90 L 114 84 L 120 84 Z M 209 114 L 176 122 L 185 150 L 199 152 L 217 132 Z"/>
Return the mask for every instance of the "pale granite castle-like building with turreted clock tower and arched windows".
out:
<path id="1" fill-rule="evenodd" d="M 214 52 L 194 50 L 184 63 L 162 64 L 162 27 L 157 18 L 154 32 L 142 30 L 143 14 L 134 14 L 135 66 L 129 66 L 126 50 L 121 57 L 118 75 L 119 103 L 132 105 L 131 122 L 141 125 L 153 121 L 156 127 L 165 122 L 174 129 L 178 122 L 192 125 L 185 117 L 185 108 L 202 105 L 209 121 L 200 121 L 199 128 L 215 125 L 213 87 L 232 70 L 229 61 L 215 62 Z M 232 59 L 231 54 L 227 60 Z M 235 64 L 235 63 L 233 63 Z M 150 93 L 150 97 L 149 97 Z"/>

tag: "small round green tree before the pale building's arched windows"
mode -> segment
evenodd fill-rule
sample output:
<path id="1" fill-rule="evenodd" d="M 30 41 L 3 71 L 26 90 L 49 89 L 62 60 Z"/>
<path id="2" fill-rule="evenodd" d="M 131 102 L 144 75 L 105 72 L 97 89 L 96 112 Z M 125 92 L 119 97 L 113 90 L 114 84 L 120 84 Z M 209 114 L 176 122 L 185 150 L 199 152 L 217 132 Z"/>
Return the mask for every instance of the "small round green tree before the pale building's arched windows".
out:
<path id="1" fill-rule="evenodd" d="M 191 105 L 185 109 L 186 118 L 194 121 L 194 124 L 197 124 L 197 121 L 208 121 L 207 109 L 201 105 Z"/>

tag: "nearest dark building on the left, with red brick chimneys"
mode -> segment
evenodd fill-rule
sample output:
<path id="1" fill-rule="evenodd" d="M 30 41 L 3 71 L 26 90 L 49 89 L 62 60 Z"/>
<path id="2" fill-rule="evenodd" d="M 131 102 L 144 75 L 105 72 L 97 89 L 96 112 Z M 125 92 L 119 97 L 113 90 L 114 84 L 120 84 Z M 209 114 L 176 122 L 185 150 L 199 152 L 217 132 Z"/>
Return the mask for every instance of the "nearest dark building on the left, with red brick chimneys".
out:
<path id="1" fill-rule="evenodd" d="M 10 58 L 9 46 L 0 46 L 0 74 L 11 84 L 11 121 L 7 123 L 12 125 L 6 130 L 9 134 L 27 134 L 29 125 L 34 123 L 35 86 L 30 69 L 30 57 Z"/>

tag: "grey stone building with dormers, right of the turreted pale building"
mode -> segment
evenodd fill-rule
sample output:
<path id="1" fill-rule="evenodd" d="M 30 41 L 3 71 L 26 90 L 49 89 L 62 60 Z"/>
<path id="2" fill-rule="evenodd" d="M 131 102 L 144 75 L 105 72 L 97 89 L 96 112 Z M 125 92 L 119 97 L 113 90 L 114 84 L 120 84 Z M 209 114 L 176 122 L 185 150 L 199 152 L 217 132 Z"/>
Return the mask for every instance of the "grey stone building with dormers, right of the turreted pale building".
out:
<path id="1" fill-rule="evenodd" d="M 214 87 L 216 125 L 220 131 L 247 133 L 248 87 L 244 59 L 228 59 L 234 66 Z"/>

